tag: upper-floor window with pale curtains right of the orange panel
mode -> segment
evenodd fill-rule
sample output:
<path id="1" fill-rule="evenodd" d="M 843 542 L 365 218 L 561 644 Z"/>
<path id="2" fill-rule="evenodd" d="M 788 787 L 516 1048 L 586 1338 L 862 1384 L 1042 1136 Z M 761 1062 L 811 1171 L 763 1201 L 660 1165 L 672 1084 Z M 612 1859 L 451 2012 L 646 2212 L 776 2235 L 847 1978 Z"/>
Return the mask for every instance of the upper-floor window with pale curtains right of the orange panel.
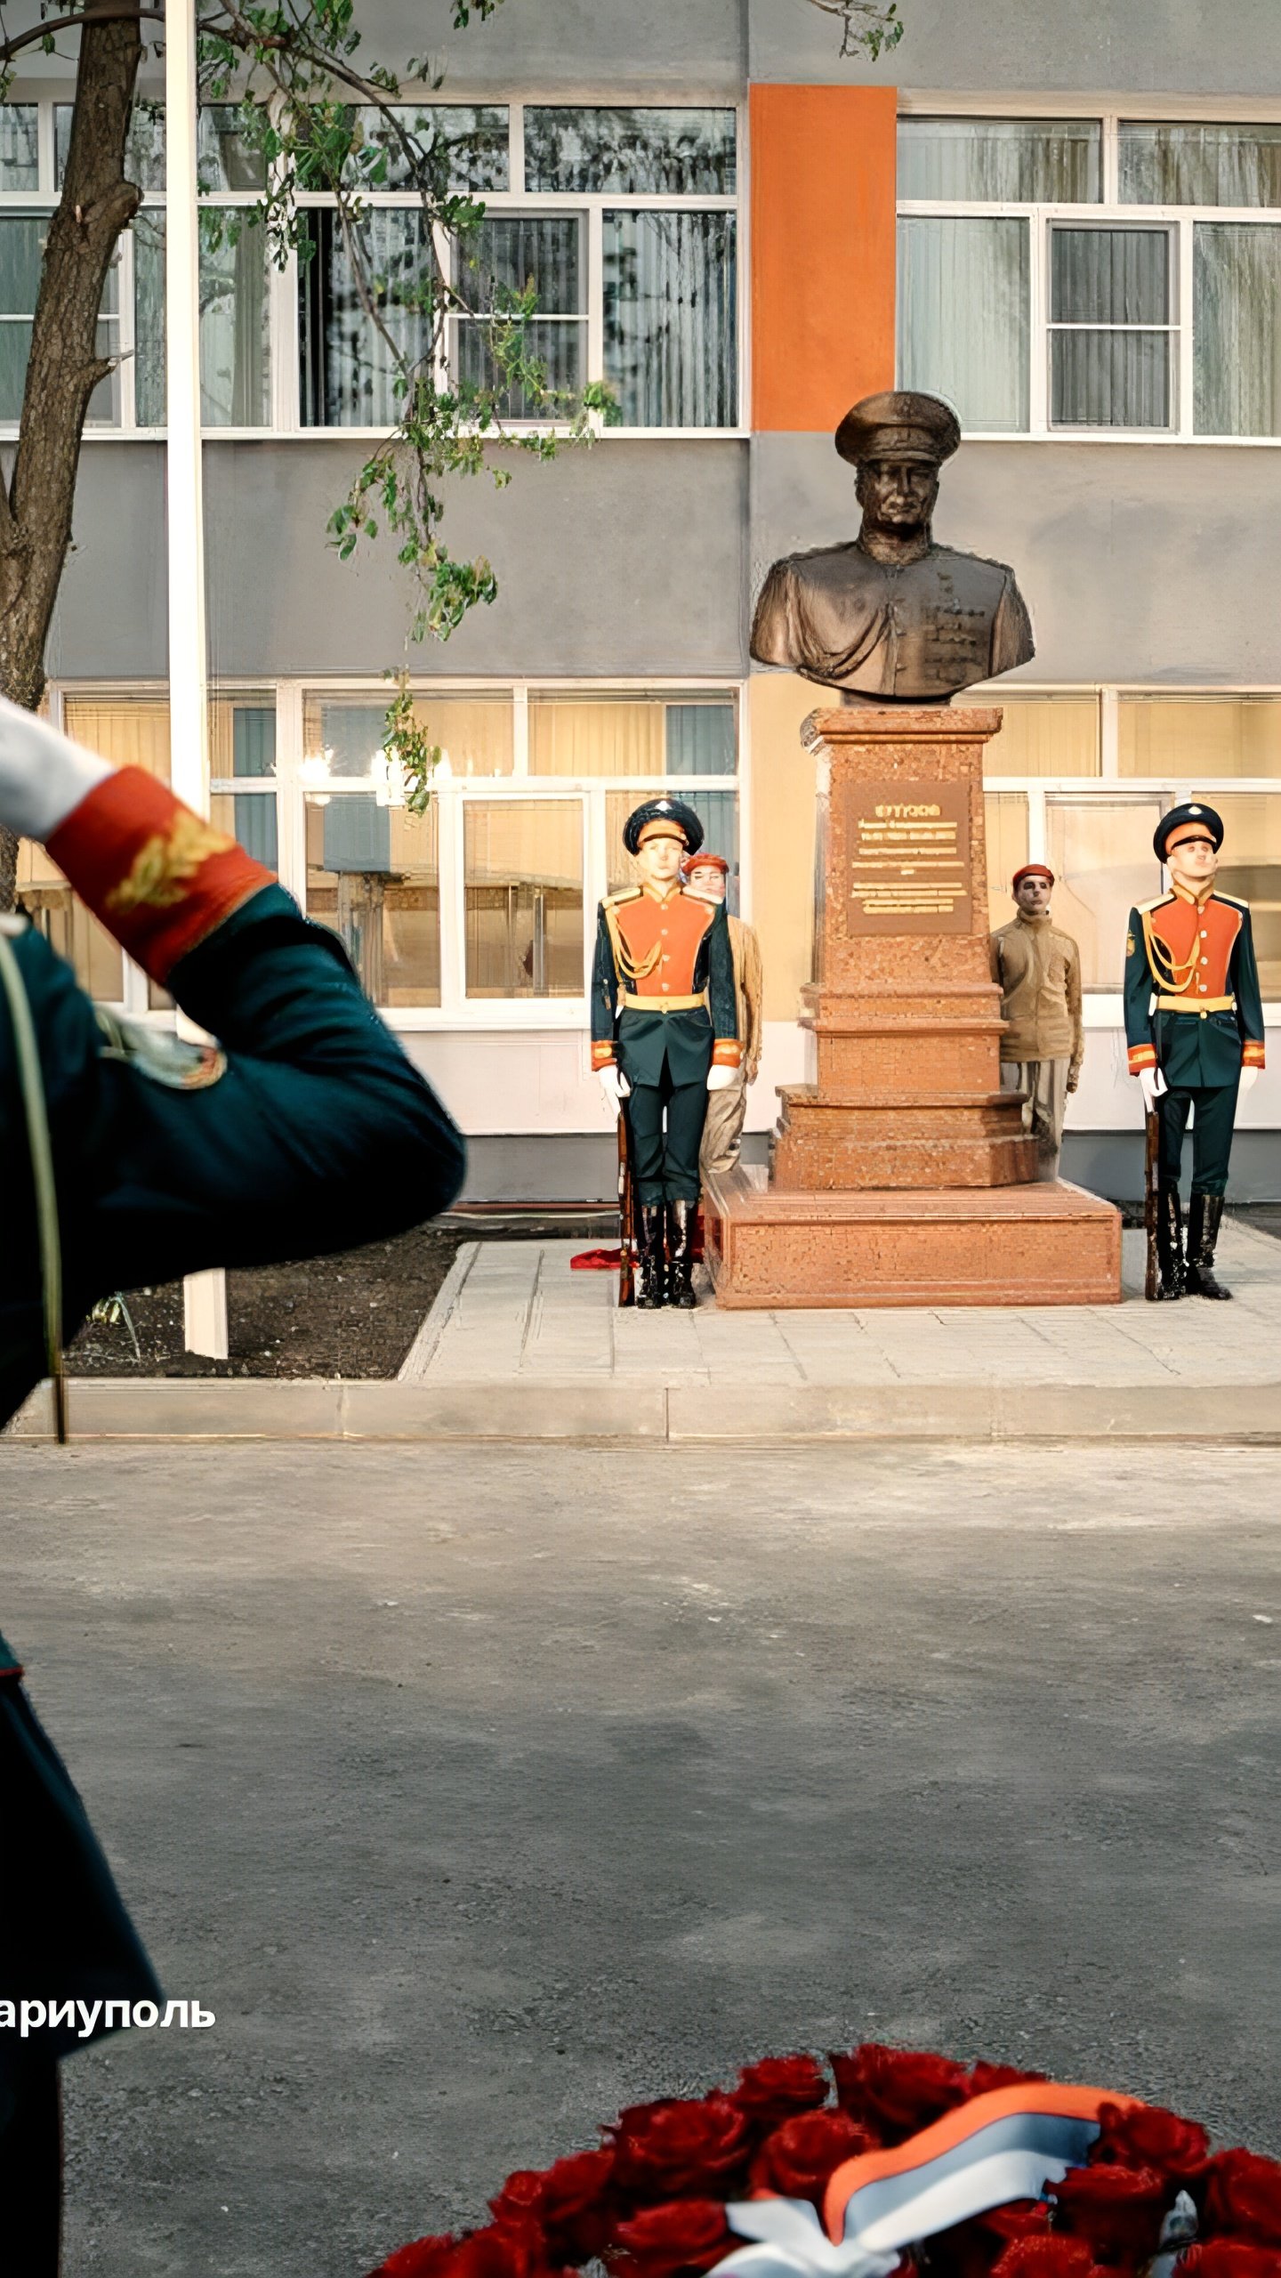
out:
<path id="1" fill-rule="evenodd" d="M 969 433 L 1281 435 L 1281 125 L 898 128 L 898 376 Z"/>

